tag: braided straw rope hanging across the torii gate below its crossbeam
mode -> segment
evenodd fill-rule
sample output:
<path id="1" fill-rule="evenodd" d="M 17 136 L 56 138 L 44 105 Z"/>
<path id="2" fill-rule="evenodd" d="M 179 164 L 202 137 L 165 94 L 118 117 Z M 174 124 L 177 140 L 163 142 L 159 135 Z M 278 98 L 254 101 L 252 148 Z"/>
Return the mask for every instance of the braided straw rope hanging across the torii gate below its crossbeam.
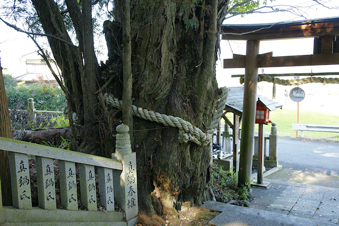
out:
<path id="1" fill-rule="evenodd" d="M 339 78 L 308 77 L 303 79 L 283 80 L 272 76 L 260 75 L 258 82 L 269 82 L 279 85 L 302 85 L 307 83 L 339 84 Z M 240 83 L 244 83 L 244 77 L 240 78 Z"/>

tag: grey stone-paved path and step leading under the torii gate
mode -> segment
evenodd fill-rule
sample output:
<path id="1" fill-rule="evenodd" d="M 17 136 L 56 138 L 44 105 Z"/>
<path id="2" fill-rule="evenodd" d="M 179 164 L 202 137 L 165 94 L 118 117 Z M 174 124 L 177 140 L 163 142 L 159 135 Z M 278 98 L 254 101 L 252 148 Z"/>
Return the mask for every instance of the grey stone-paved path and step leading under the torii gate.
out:
<path id="1" fill-rule="evenodd" d="M 251 200 L 250 208 L 213 201 L 205 202 L 202 208 L 222 212 L 212 219 L 209 225 L 339 225 L 339 188 L 294 183 L 267 177 L 264 178 L 264 182 L 270 182 L 271 188 L 253 187 L 254 198 Z"/>

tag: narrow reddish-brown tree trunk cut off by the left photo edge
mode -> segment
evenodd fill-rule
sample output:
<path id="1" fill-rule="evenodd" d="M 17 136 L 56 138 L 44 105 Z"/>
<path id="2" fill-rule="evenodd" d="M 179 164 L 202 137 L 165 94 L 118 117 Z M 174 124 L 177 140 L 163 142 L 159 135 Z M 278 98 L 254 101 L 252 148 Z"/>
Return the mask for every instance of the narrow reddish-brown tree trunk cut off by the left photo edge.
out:
<path id="1" fill-rule="evenodd" d="M 0 137 L 13 139 L 11 119 L 8 112 L 7 96 L 2 77 L 0 61 Z M 0 150 L 0 180 L 3 205 L 12 205 L 11 177 L 9 172 L 8 152 Z"/>

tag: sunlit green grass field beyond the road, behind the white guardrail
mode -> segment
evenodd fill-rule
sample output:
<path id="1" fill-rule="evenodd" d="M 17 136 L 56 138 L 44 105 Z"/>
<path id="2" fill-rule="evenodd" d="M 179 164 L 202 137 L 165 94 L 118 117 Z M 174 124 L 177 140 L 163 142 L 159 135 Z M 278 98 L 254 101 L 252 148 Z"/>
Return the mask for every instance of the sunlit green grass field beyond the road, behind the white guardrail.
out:
<path id="1" fill-rule="evenodd" d="M 233 114 L 227 113 L 226 117 L 233 122 Z M 297 111 L 278 109 L 270 112 L 270 121 L 277 123 L 278 136 L 280 137 L 296 137 L 296 131 L 292 130 L 292 123 L 297 123 Z M 224 120 L 222 120 L 224 123 Z M 300 124 L 318 124 L 318 125 L 339 125 L 339 115 L 323 112 L 300 111 Z M 271 124 L 265 125 L 266 134 L 271 132 Z M 255 132 L 258 132 L 258 124 L 255 124 Z M 300 136 L 301 132 L 298 132 Z M 307 139 L 326 139 L 339 141 L 339 133 L 314 132 L 305 131 L 304 138 Z"/>

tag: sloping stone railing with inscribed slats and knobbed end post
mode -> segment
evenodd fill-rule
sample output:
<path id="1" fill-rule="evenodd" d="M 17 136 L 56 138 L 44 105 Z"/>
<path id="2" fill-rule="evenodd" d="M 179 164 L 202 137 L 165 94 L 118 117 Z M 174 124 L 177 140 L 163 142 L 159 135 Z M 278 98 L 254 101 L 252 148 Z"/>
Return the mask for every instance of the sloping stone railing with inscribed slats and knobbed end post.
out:
<path id="1" fill-rule="evenodd" d="M 95 218 L 93 218 L 92 211 L 99 214 L 104 213 L 97 211 L 97 202 L 99 201 L 97 200 L 95 181 L 95 170 L 97 170 L 100 201 L 107 212 L 104 213 L 106 214 L 104 217 L 97 217 L 98 220 L 94 220 L 94 222 L 102 222 L 104 221 L 102 219 L 107 218 L 109 212 L 114 212 L 115 197 L 125 214 L 122 215 L 122 218 L 118 217 L 118 220 L 110 218 L 107 221 L 119 222 L 120 219 L 123 220 L 123 225 L 135 225 L 138 221 L 136 153 L 131 149 L 128 126 L 119 125 L 116 130 L 118 134 L 116 135 L 116 151 L 112 154 L 113 159 L 0 137 L 0 150 L 9 152 L 13 207 L 21 211 L 15 213 L 13 207 L 2 207 L 0 196 L 0 217 L 2 215 L 0 224 L 23 220 L 20 218 L 20 214 L 32 215 L 29 222 L 46 222 L 45 215 L 61 216 L 61 219 L 48 218 L 47 222 L 74 222 L 72 219 L 78 219 L 78 213 L 84 215 L 84 211 L 78 211 L 77 180 L 80 181 L 81 203 L 88 210 L 86 212 L 90 212 L 88 216 L 92 216 L 88 221 L 93 222 Z M 38 209 L 41 210 L 38 214 L 36 214 L 37 207 L 32 207 L 30 192 L 32 175 L 30 175 L 28 155 L 35 156 Z M 71 211 L 72 216 L 65 213 L 64 210 L 57 210 L 55 160 L 58 161 L 61 205 L 63 209 Z M 76 175 L 76 163 L 79 164 L 79 178 Z M 32 209 L 35 212 L 23 213 L 23 210 Z M 53 211 L 53 214 L 47 213 L 47 210 Z M 40 216 L 42 219 L 39 217 L 33 219 L 33 216 L 38 216 L 39 213 L 44 215 Z M 68 217 L 65 219 L 62 215 Z"/>

